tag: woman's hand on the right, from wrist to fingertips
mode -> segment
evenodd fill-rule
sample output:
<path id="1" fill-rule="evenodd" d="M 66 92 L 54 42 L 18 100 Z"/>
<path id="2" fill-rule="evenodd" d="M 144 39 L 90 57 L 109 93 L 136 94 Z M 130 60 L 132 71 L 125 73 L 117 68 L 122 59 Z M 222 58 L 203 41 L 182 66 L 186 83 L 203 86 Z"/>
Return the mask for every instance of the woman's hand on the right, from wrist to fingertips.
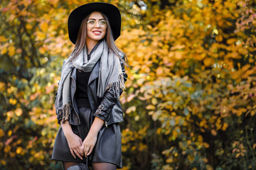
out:
<path id="1" fill-rule="evenodd" d="M 97 142 L 97 134 L 90 135 L 90 133 L 88 133 L 87 137 L 85 137 L 85 140 L 82 142 L 82 147 L 80 148 L 80 152 L 85 154 L 85 157 L 87 157 L 92 153 L 92 150 L 95 147 L 96 142 Z"/>

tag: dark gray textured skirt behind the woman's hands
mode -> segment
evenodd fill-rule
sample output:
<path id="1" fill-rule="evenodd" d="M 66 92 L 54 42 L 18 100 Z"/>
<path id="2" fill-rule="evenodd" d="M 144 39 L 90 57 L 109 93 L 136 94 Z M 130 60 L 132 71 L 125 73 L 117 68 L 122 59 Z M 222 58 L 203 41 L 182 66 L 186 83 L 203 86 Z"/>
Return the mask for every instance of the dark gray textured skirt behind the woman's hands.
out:
<path id="1" fill-rule="evenodd" d="M 78 135 L 82 141 L 85 140 L 87 133 L 92 125 L 92 112 L 90 108 L 79 108 L 80 125 L 71 125 L 73 132 Z M 107 128 L 105 125 L 100 129 L 97 142 L 92 151 L 92 154 L 88 157 L 89 166 L 92 162 L 107 162 L 116 164 L 117 168 L 122 168 L 122 152 L 121 152 L 121 132 L 118 123 L 109 125 Z M 63 129 L 60 127 L 55 137 L 55 143 L 53 146 L 53 160 L 63 162 L 81 162 L 81 159 L 72 156 L 68 147 L 68 141 L 65 138 Z M 83 162 L 85 162 L 83 157 Z"/>

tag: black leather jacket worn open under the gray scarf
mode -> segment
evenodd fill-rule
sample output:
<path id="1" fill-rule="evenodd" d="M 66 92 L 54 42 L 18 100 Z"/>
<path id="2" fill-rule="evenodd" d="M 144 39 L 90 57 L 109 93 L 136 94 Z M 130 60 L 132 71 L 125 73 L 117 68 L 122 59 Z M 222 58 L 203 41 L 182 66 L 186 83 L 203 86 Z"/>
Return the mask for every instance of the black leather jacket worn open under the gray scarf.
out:
<path id="1" fill-rule="evenodd" d="M 121 56 L 124 60 L 124 56 Z M 124 64 L 120 61 L 122 72 L 124 75 L 124 81 L 127 81 L 127 74 L 125 73 Z M 102 98 L 97 97 L 97 81 L 99 77 L 100 70 L 100 61 L 95 64 L 95 67 L 92 69 L 90 78 L 87 86 L 87 95 L 90 101 L 90 107 L 94 116 L 105 121 L 105 125 L 110 125 L 112 123 L 122 122 L 123 111 L 119 98 L 114 97 L 113 91 L 105 91 L 105 94 Z M 77 69 L 74 67 L 71 73 L 71 84 L 70 84 L 70 93 L 72 101 L 72 109 L 70 113 L 69 123 L 70 125 L 79 125 L 80 119 L 78 116 L 78 104 L 75 98 L 76 90 L 76 72 Z M 122 89 L 120 89 L 120 95 L 122 94 Z M 58 123 L 60 123 L 62 118 L 58 117 Z"/>

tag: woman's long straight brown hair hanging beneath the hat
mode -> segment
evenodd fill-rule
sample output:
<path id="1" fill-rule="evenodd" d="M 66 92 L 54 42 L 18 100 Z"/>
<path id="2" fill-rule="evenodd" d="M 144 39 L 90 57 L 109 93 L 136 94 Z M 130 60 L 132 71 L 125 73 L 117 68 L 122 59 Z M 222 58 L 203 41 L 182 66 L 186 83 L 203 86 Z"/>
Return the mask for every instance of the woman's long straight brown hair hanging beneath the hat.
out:
<path id="1" fill-rule="evenodd" d="M 95 12 L 95 11 L 93 11 L 93 12 Z M 100 11 L 97 11 L 97 12 L 101 13 Z M 105 20 L 107 21 L 106 35 L 103 39 L 106 40 L 107 46 L 109 47 L 110 52 L 114 52 L 114 54 L 117 55 L 119 57 L 119 59 L 124 64 L 126 64 L 126 62 L 124 60 L 127 61 L 127 56 L 124 54 L 124 52 L 119 50 L 117 45 L 115 45 L 110 22 L 104 13 L 101 13 L 101 14 L 102 14 L 103 18 L 105 18 Z M 75 48 L 74 48 L 73 52 L 71 53 L 71 55 L 73 55 L 71 60 L 73 60 L 75 57 L 78 57 L 78 55 L 80 54 L 80 52 L 86 45 L 87 20 L 89 19 L 90 15 L 91 15 L 91 13 L 89 13 L 87 16 L 85 16 L 85 18 L 82 20 L 82 23 L 80 25 L 80 29 L 78 32 L 78 38 L 75 42 Z M 122 52 L 124 54 L 124 60 L 122 60 L 122 58 L 119 56 L 119 52 Z"/>

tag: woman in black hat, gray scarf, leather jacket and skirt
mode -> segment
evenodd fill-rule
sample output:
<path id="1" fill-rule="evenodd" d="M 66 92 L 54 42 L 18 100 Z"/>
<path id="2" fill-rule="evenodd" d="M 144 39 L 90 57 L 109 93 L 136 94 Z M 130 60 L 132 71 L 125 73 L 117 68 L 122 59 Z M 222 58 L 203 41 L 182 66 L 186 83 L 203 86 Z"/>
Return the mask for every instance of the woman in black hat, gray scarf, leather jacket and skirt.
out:
<path id="1" fill-rule="evenodd" d="M 120 35 L 116 6 L 90 3 L 75 8 L 68 34 L 75 48 L 63 62 L 55 99 L 58 123 L 52 159 L 64 169 L 85 161 L 97 170 L 122 168 L 124 55 L 114 44 Z"/>

